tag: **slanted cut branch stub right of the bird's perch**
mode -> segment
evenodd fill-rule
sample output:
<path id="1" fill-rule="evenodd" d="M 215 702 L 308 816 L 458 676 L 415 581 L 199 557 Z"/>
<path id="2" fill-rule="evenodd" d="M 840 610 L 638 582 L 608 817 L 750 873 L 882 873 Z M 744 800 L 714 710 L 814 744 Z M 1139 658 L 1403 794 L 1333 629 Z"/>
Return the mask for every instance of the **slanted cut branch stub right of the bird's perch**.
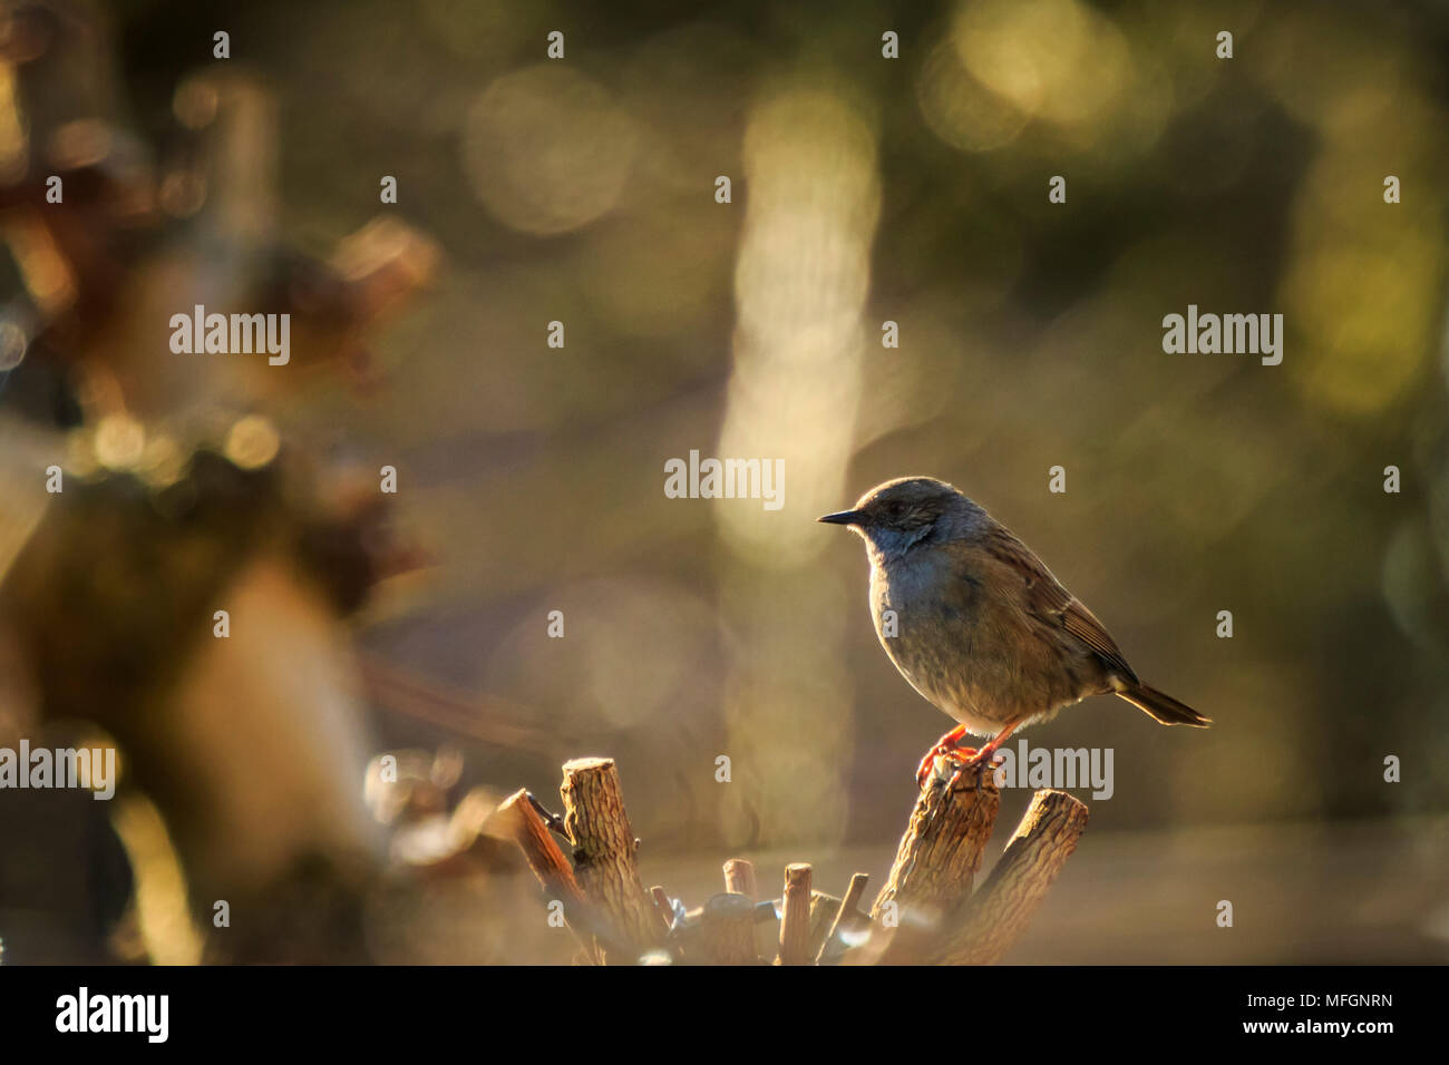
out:
<path id="1" fill-rule="evenodd" d="M 981 890 L 943 930 L 926 961 L 991 965 L 1026 932 L 1087 829 L 1087 804 L 1065 791 L 1037 791 Z"/>

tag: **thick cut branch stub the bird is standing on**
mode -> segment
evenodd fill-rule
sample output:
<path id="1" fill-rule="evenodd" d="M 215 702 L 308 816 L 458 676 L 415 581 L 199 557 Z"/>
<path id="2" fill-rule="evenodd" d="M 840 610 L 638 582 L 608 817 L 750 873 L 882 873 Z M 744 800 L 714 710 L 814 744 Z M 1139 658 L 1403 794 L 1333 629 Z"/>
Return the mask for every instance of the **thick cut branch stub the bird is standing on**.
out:
<path id="1" fill-rule="evenodd" d="M 916 800 L 871 917 L 881 922 L 890 914 L 901 926 L 939 923 L 971 894 L 1000 809 L 1001 793 L 991 772 L 961 771 L 949 780 L 933 775 Z"/>

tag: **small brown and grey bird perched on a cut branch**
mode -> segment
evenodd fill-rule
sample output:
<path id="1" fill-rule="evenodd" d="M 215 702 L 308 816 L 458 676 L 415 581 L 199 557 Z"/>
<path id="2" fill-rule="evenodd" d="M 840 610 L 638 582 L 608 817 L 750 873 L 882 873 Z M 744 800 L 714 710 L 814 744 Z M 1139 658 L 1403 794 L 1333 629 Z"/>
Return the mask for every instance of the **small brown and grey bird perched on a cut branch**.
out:
<path id="1" fill-rule="evenodd" d="M 1162 724 L 1211 723 L 1139 681 L 1091 610 L 949 484 L 887 481 L 819 520 L 865 540 L 881 646 L 916 691 L 961 722 L 922 759 L 919 784 L 936 756 L 988 764 L 1013 730 L 1088 696 L 1122 696 Z M 994 739 L 961 746 L 968 732 Z"/>

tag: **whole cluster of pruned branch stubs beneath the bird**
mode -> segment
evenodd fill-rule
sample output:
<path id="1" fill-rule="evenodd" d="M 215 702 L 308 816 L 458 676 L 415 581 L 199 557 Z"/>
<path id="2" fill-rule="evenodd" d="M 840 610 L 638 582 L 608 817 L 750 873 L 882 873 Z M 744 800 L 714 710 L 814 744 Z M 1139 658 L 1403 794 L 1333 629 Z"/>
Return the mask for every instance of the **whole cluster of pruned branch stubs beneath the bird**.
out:
<path id="1" fill-rule="evenodd" d="M 724 862 L 724 891 L 697 909 L 664 887 L 646 891 L 610 758 L 564 765 L 562 816 L 523 790 L 491 827 L 517 842 L 588 964 L 985 965 L 1026 930 L 1087 827 L 1087 807 L 1065 791 L 1037 791 L 972 891 L 1001 794 L 990 772 L 943 765 L 922 788 L 868 911 L 867 874 L 836 897 L 814 890 L 804 862 L 785 866 L 778 898 L 759 898 L 755 868 L 742 858 Z"/>

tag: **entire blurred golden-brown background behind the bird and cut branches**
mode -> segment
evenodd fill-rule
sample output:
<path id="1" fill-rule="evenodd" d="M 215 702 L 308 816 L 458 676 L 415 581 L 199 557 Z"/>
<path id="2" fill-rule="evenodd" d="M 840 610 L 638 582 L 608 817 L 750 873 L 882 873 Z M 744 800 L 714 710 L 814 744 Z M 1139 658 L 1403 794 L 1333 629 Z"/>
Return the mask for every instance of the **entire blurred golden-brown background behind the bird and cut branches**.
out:
<path id="1" fill-rule="evenodd" d="M 485 823 L 578 755 L 690 906 L 878 885 L 951 722 L 814 517 L 903 474 L 1217 723 L 1024 733 L 1116 780 L 1010 961 L 1449 958 L 1449 7 L 0 10 L 0 746 L 123 774 L 0 793 L 7 961 L 567 962 Z M 172 355 L 199 303 L 291 362 Z"/>

